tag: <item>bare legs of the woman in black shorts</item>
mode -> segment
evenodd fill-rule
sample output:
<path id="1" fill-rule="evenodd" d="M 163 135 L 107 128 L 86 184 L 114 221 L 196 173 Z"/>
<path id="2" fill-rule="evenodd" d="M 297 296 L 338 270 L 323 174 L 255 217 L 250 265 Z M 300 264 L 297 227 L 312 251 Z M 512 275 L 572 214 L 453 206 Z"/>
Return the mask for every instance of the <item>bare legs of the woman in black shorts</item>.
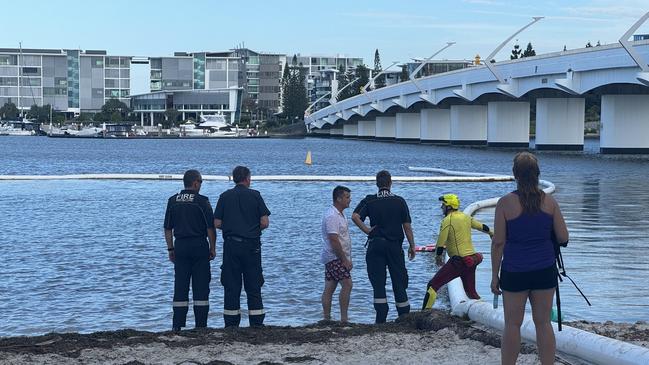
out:
<path id="1" fill-rule="evenodd" d="M 527 298 L 532 305 L 532 318 L 536 328 L 536 343 L 541 364 L 553 364 L 556 342 L 550 324 L 554 288 L 523 292 L 503 291 L 505 332 L 501 344 L 503 365 L 514 365 L 521 347 L 521 324 L 525 315 Z"/>

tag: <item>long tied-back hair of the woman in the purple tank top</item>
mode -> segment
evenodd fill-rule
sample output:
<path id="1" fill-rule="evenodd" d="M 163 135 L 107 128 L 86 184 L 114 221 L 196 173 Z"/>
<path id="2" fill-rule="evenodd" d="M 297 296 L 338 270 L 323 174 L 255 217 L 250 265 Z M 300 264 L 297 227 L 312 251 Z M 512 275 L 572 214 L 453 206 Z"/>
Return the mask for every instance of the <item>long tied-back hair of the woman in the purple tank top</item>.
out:
<path id="1" fill-rule="evenodd" d="M 518 197 L 525 213 L 538 213 L 541 210 L 541 201 L 545 193 L 539 189 L 539 162 L 529 152 L 519 152 L 514 156 L 512 168 Z"/>

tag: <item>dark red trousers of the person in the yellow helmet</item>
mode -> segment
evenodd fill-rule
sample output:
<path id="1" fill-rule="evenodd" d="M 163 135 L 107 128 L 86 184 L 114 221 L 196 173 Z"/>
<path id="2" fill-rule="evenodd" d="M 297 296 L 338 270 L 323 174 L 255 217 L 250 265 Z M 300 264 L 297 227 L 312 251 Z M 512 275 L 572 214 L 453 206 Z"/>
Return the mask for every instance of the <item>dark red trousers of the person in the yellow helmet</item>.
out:
<path id="1" fill-rule="evenodd" d="M 444 284 L 459 276 L 466 295 L 470 299 L 480 299 L 475 290 L 475 269 L 481 262 L 482 255 L 479 253 L 467 257 L 453 256 L 437 271 L 428 286 L 437 292 Z"/>

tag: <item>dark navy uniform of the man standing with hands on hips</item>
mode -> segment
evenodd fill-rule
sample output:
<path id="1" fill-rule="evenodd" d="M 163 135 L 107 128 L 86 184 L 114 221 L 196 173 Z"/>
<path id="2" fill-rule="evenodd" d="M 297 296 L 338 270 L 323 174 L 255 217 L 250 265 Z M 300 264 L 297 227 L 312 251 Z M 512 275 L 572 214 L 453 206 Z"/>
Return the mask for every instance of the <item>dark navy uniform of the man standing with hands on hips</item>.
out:
<path id="1" fill-rule="evenodd" d="M 397 312 L 399 315 L 409 313 L 410 302 L 406 293 L 408 271 L 401 247 L 404 239 L 403 223 L 411 222 L 406 201 L 389 190 L 382 189 L 377 194 L 368 195 L 361 200 L 354 213 L 363 221 L 369 217 L 370 226 L 374 227 L 368 235 L 365 262 L 367 276 L 374 291 L 376 323 L 384 323 L 388 316 L 388 300 L 385 293 L 386 266 L 390 270 Z"/>

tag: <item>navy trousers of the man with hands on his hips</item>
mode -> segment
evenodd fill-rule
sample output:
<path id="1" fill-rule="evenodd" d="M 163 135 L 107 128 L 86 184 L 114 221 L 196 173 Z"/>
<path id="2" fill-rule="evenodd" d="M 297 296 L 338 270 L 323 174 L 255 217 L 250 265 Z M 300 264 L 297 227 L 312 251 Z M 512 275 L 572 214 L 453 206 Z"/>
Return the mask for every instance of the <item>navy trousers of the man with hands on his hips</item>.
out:
<path id="1" fill-rule="evenodd" d="M 367 276 L 374 291 L 374 310 L 376 323 L 384 323 L 388 316 L 388 300 L 385 294 L 386 267 L 390 271 L 392 290 L 396 302 L 397 313 L 401 316 L 410 312 L 408 302 L 408 271 L 401 242 L 390 242 L 382 238 L 369 241 L 365 254 Z"/>

